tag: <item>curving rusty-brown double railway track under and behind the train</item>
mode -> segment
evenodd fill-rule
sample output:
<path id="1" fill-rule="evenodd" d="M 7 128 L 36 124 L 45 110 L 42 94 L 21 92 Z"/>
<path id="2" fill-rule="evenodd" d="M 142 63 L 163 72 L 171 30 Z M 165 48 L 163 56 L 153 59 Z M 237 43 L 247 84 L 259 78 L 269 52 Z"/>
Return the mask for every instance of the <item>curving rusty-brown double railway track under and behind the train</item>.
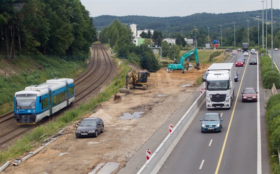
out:
<path id="1" fill-rule="evenodd" d="M 110 56 L 102 45 L 93 44 L 92 50 L 93 53 L 86 71 L 74 79 L 75 101 L 62 111 L 59 111 L 59 113 L 55 113 L 49 117 L 59 116 L 64 110 L 71 109 L 85 102 L 89 99 L 89 96 L 97 94 L 99 88 L 109 79 L 109 76 L 113 72 L 113 62 Z M 43 119 L 34 125 L 17 125 L 13 119 L 13 110 L 1 115 L 0 127 L 2 127 L 2 131 L 0 132 L 0 147 L 5 147 L 7 143 L 18 138 L 20 135 L 48 121 L 49 119 Z"/>

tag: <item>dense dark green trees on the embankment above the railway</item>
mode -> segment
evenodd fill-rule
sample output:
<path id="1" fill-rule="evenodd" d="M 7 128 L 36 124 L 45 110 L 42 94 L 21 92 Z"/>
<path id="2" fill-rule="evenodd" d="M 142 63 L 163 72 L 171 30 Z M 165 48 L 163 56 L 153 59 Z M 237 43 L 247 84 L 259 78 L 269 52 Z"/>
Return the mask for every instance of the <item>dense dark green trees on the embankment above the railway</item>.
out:
<path id="1" fill-rule="evenodd" d="M 54 55 L 84 60 L 97 39 L 79 0 L 0 0 L 0 56 Z"/>

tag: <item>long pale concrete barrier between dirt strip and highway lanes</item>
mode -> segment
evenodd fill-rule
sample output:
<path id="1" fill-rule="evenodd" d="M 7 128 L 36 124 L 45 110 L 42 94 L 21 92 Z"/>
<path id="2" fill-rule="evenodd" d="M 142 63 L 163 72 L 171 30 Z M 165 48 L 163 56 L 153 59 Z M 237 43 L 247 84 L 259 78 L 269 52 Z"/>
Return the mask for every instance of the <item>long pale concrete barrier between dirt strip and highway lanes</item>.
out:
<path id="1" fill-rule="evenodd" d="M 188 128 L 199 109 L 205 103 L 205 90 L 192 103 L 189 109 L 184 113 L 181 119 L 173 127 L 171 133 L 168 133 L 163 141 L 158 145 L 150 158 L 142 165 L 137 174 L 157 173 L 169 154 L 172 152 L 185 130 Z"/>

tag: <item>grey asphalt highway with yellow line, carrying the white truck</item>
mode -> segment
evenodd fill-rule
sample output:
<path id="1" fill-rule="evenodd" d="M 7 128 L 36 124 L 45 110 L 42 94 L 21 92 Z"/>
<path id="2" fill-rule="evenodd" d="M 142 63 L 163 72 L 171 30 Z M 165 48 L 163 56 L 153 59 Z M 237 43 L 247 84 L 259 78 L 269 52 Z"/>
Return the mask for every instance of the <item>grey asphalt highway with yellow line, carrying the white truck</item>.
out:
<path id="1" fill-rule="evenodd" d="M 263 101 L 266 89 L 262 89 L 259 64 L 250 65 L 249 58 L 243 67 L 235 67 L 238 81 L 231 108 L 207 110 L 202 106 L 158 173 L 269 173 Z M 245 87 L 258 91 L 257 102 L 241 102 Z M 199 119 L 207 112 L 222 113 L 220 133 L 201 133 Z"/>

